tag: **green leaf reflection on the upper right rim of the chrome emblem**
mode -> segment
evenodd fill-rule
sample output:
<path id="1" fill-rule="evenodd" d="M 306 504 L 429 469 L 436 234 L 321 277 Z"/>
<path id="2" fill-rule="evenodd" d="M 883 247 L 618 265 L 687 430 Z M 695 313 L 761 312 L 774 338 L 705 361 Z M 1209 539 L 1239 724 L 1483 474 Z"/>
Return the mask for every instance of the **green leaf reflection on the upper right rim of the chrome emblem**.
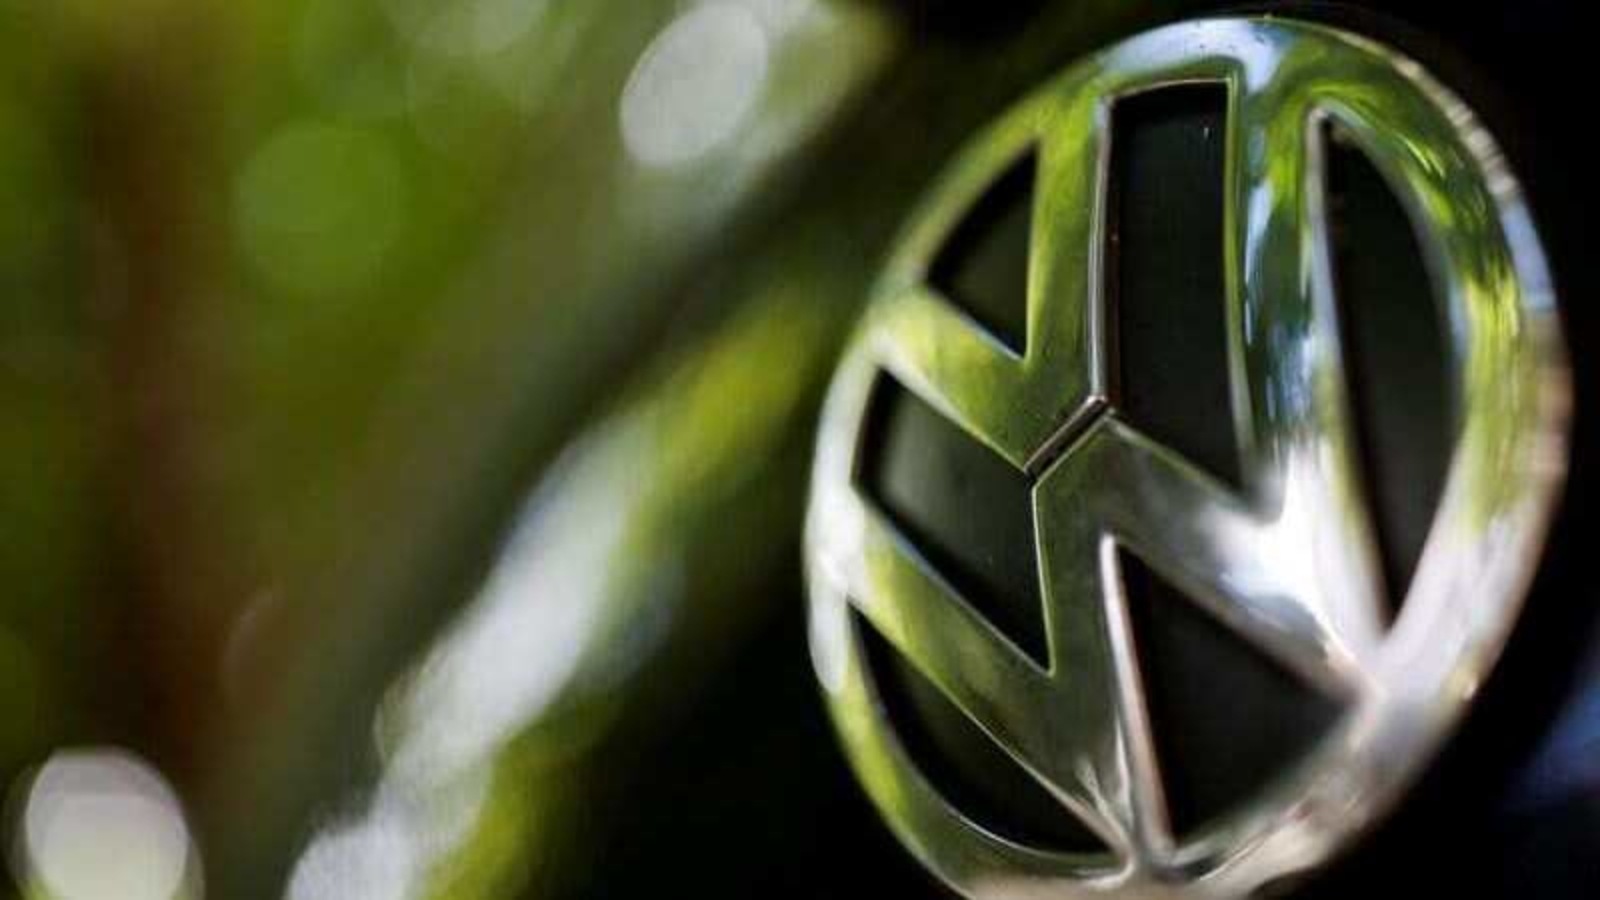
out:
<path id="1" fill-rule="evenodd" d="M 1446 338 L 1453 364 L 1462 368 L 1458 402 L 1467 415 L 1458 460 L 1466 468 L 1458 476 L 1472 485 L 1472 528 L 1480 530 L 1525 496 L 1525 477 L 1541 464 L 1536 445 L 1552 400 L 1542 392 L 1549 389 L 1550 354 L 1560 348 L 1530 323 L 1530 312 L 1547 298 L 1525 291 L 1544 290 L 1546 274 L 1538 248 L 1517 248 L 1522 258 L 1515 258 L 1509 243 L 1514 235 L 1506 229 L 1526 227 L 1526 211 L 1502 171 L 1504 160 L 1459 101 L 1419 78 L 1376 54 L 1298 46 L 1282 59 L 1280 82 L 1262 101 L 1267 109 L 1288 110 L 1293 101 L 1307 104 L 1304 114 L 1331 114 L 1411 211 L 1430 269 L 1442 279 Z M 1259 147 L 1251 146 L 1251 152 L 1266 154 L 1267 186 L 1283 210 L 1302 202 L 1298 135 L 1291 131 L 1302 115 L 1288 112 Z M 1250 365 L 1282 357 L 1290 341 L 1278 331 L 1294 333 L 1304 322 L 1285 315 L 1259 327 L 1264 333 L 1246 344 Z M 1266 412 L 1304 400 L 1267 397 L 1272 408 Z"/>

